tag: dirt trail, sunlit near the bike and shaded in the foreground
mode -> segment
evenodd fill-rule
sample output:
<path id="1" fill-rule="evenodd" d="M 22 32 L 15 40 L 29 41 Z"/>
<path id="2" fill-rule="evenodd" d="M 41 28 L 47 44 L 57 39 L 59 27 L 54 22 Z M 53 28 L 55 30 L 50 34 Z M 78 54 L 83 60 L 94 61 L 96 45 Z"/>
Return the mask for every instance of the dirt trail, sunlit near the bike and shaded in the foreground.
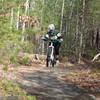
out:
<path id="1" fill-rule="evenodd" d="M 18 83 L 29 95 L 37 96 L 38 100 L 100 100 L 87 95 L 73 83 L 61 80 L 61 76 L 70 71 L 65 67 L 46 68 L 35 64 L 20 69 Z"/>

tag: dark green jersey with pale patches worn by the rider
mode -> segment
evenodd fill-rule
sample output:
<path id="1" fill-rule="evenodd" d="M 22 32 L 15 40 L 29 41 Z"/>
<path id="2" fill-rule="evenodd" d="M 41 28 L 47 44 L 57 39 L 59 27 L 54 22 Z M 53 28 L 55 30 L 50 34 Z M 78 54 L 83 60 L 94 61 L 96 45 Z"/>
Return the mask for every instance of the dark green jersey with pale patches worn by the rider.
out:
<path id="1" fill-rule="evenodd" d="M 63 41 L 62 34 L 60 32 L 48 32 L 45 36 L 45 40 L 51 39 L 53 43 L 60 43 Z"/>

